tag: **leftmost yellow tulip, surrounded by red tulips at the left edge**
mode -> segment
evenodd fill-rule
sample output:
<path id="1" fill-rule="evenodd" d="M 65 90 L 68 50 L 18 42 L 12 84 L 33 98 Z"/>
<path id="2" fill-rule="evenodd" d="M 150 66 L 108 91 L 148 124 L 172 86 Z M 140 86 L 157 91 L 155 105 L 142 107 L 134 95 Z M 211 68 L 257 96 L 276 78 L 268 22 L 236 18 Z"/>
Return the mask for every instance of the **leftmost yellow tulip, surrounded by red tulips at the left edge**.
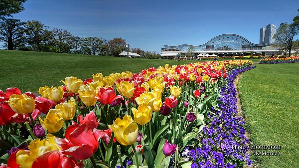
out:
<path id="1" fill-rule="evenodd" d="M 35 108 L 34 99 L 25 94 L 10 95 L 7 103 L 10 106 L 10 108 L 17 114 L 29 114 L 33 112 Z"/>

